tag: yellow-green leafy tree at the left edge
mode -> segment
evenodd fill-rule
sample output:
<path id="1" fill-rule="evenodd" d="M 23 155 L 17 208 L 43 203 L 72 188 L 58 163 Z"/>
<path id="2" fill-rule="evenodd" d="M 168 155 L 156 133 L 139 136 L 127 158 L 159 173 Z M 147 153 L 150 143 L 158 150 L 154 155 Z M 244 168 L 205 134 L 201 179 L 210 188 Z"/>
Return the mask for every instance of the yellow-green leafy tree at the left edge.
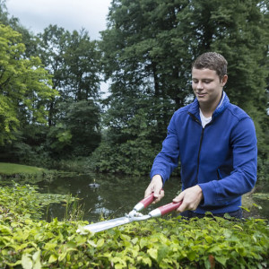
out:
<path id="1" fill-rule="evenodd" d="M 50 87 L 48 72 L 39 57 L 22 57 L 22 35 L 0 25 L 0 143 L 14 139 L 13 132 L 23 123 L 46 123 L 45 104 L 56 95 Z M 20 126 L 21 125 L 21 126 Z"/>

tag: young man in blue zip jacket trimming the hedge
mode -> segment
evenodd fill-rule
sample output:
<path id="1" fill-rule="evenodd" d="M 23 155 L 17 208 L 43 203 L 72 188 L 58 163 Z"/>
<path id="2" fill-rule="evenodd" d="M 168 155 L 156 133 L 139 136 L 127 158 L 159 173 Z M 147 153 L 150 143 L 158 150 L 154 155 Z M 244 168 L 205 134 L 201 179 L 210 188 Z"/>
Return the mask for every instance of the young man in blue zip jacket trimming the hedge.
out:
<path id="1" fill-rule="evenodd" d="M 177 211 L 186 217 L 211 212 L 241 218 L 241 195 L 256 183 L 255 126 L 246 112 L 230 103 L 223 91 L 227 80 L 227 61 L 220 54 L 208 52 L 195 60 L 196 98 L 171 118 L 152 165 L 145 196 L 154 192 L 156 203 L 180 160 L 182 192 L 173 202 L 182 201 Z"/>

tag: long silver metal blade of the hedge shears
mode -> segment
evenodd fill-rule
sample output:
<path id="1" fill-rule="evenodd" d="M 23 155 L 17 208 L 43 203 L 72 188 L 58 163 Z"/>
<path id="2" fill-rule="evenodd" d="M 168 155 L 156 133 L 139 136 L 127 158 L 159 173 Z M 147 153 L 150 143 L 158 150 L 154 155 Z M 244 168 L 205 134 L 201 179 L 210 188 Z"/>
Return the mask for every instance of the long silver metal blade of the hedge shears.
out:
<path id="1" fill-rule="evenodd" d="M 129 223 L 132 221 L 133 221 L 132 218 L 121 217 L 121 218 L 117 218 L 117 219 L 113 219 L 109 221 L 100 221 L 97 223 L 92 223 L 92 224 L 84 226 L 83 228 L 86 230 L 90 230 L 91 232 L 99 232 L 101 230 L 108 230 L 108 229 Z"/>

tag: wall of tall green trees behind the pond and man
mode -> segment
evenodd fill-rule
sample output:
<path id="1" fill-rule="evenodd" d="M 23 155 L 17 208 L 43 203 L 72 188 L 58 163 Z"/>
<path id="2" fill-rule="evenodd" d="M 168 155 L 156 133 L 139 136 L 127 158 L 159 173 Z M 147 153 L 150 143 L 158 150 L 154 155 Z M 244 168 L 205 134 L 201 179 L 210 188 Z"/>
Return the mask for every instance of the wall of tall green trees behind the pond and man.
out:
<path id="1" fill-rule="evenodd" d="M 114 0 L 91 40 L 57 25 L 35 35 L 1 0 L 0 161 L 149 174 L 170 117 L 194 99 L 193 60 L 217 51 L 230 101 L 255 122 L 258 178 L 269 180 L 268 10 L 267 0 Z"/>

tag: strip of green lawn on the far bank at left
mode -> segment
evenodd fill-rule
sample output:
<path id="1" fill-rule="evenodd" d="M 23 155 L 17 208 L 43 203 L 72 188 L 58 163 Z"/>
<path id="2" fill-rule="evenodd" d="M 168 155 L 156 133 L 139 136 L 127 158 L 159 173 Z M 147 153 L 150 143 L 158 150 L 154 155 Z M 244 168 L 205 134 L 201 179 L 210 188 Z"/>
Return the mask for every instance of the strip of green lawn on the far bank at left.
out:
<path id="1" fill-rule="evenodd" d="M 13 175 L 13 174 L 40 174 L 45 169 L 38 167 L 0 162 L 0 174 L 4 175 Z"/>

